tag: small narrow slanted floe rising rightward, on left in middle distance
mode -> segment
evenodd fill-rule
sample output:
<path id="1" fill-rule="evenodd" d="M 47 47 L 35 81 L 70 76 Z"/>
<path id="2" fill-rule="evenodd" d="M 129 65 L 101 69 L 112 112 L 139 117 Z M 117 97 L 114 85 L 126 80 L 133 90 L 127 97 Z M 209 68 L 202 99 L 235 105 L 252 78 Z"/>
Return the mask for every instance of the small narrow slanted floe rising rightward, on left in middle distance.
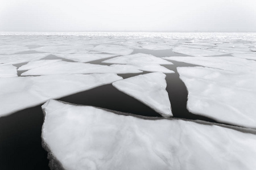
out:
<path id="1" fill-rule="evenodd" d="M 41 66 L 49 65 L 57 61 L 61 61 L 61 59 L 41 59 L 38 61 L 30 61 L 26 65 L 19 67 L 18 70 L 21 71 L 21 70 L 35 69 Z"/>

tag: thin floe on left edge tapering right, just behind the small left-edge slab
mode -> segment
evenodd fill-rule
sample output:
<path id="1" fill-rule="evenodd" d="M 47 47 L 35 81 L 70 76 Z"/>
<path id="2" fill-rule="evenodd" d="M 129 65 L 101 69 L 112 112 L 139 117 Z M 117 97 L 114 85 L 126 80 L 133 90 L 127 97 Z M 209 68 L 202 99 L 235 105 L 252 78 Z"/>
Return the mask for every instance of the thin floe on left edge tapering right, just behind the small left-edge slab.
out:
<path id="1" fill-rule="evenodd" d="M 49 53 L 0 55 L 0 63 L 16 64 L 16 63 L 30 62 L 30 61 L 39 60 L 48 55 Z"/>

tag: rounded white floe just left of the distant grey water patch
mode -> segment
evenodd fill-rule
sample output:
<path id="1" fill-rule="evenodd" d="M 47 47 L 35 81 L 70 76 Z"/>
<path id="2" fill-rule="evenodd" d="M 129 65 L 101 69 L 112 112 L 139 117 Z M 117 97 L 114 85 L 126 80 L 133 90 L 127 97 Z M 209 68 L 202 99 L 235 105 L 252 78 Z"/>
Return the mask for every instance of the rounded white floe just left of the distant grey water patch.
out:
<path id="1" fill-rule="evenodd" d="M 133 49 L 121 45 L 97 45 L 92 50 L 102 53 L 128 55 L 133 52 Z"/>

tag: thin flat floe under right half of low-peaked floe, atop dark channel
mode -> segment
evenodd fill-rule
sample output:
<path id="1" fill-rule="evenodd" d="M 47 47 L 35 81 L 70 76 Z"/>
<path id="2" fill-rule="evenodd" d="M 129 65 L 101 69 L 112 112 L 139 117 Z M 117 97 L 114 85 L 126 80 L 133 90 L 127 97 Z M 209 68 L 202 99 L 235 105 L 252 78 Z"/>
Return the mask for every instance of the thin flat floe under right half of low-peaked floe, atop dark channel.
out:
<path id="1" fill-rule="evenodd" d="M 174 71 L 169 70 L 166 67 L 158 65 L 158 64 L 134 64 L 133 66 L 136 67 L 137 69 L 143 70 L 143 71 L 175 73 Z"/>

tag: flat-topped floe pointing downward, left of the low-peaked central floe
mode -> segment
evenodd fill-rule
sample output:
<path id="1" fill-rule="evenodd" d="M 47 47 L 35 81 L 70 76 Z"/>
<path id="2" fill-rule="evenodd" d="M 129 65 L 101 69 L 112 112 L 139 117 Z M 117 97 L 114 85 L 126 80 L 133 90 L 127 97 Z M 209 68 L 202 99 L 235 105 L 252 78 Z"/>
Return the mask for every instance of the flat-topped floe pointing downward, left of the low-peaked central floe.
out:
<path id="1" fill-rule="evenodd" d="M 117 56 L 117 54 L 55 54 L 57 57 L 71 59 L 77 62 L 89 62 L 97 59 L 104 59 Z"/>

